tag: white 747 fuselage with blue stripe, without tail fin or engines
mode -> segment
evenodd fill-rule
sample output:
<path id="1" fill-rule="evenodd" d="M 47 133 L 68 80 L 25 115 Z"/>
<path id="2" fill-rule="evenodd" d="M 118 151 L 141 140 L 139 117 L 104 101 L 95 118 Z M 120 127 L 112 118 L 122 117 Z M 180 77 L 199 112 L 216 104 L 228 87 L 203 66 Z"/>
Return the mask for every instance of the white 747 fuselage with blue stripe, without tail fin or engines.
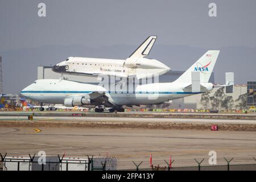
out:
<path id="1" fill-rule="evenodd" d="M 115 105 L 152 105 L 176 98 L 191 96 L 203 92 L 185 92 L 183 88 L 190 83 L 155 83 L 135 86 L 134 91 L 107 90 L 102 86 L 84 84 L 67 80 L 36 80 L 24 88 L 21 94 L 31 100 L 49 103 L 64 104 L 68 97 L 83 96 L 91 92 L 104 92 L 109 101 Z M 202 83 L 204 92 L 213 89 L 212 83 Z"/>

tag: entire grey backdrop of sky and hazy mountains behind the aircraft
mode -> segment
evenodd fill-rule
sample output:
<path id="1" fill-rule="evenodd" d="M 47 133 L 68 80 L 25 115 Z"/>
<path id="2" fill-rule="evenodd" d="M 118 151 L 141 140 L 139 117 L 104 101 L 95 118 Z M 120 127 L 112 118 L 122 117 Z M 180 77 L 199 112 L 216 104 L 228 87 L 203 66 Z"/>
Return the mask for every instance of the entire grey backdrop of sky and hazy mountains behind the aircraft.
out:
<path id="1" fill-rule="evenodd" d="M 46 17 L 38 16 L 41 2 Z M 208 15 L 212 2 L 217 17 Z M 216 82 L 232 71 L 246 84 L 256 78 L 255 8 L 255 0 L 0 0 L 3 88 L 19 93 L 36 79 L 38 65 L 68 56 L 126 59 L 149 35 L 158 35 L 150 57 L 173 70 L 220 49 Z"/>

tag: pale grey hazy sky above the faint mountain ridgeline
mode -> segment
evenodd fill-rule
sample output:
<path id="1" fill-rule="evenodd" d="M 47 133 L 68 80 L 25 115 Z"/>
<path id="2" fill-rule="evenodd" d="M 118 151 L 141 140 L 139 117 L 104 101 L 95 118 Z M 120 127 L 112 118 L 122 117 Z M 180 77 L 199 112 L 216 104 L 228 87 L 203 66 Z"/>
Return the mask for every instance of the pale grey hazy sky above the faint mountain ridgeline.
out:
<path id="1" fill-rule="evenodd" d="M 40 2 L 46 3 L 43 18 Z M 208 15 L 210 2 L 217 5 L 217 17 Z M 255 0 L 1 0 L 0 49 L 137 45 L 148 35 L 158 35 L 157 44 L 255 47 L 255 7 Z"/>

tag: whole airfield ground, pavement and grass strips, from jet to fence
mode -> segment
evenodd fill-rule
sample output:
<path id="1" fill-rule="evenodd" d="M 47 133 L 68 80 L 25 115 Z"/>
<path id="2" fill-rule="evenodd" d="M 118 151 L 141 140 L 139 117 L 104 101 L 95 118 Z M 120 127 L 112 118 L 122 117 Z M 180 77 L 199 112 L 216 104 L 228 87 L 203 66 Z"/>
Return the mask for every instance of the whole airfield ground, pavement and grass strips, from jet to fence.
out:
<path id="1" fill-rule="evenodd" d="M 166 166 L 164 160 L 172 155 L 174 167 L 196 166 L 194 158 L 205 158 L 201 165 L 209 166 L 208 154 L 213 150 L 220 165 L 226 164 L 224 157 L 234 157 L 232 164 L 255 163 L 255 119 L 112 117 L 105 113 L 92 117 L 88 113 L 68 113 L 34 115 L 29 121 L 27 115 L 21 114 L 0 115 L 0 152 L 7 152 L 7 156 L 28 156 L 41 150 L 47 155 L 65 152 L 71 157 L 108 154 L 118 159 L 118 169 L 134 169 L 132 161 L 143 161 L 141 168 L 149 168 L 150 154 L 154 165 Z M 213 124 L 219 131 L 210 131 Z"/>

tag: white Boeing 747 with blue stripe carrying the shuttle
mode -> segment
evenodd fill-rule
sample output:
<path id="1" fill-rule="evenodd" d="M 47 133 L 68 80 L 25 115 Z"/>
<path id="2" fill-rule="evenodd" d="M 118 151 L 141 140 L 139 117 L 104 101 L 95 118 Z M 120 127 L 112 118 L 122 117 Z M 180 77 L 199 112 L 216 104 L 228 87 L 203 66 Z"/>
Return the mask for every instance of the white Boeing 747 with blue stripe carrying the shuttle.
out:
<path id="1" fill-rule="evenodd" d="M 209 92 L 214 85 L 209 81 L 220 51 L 207 51 L 174 82 L 135 85 L 133 90 L 106 89 L 100 85 L 84 84 L 67 80 L 36 80 L 21 91 L 21 94 L 42 103 L 71 106 L 93 105 L 96 112 L 124 111 L 123 106 L 153 105 L 176 98 Z M 234 75 L 226 73 L 226 91 L 233 92 Z M 42 109 L 43 110 L 43 109 Z"/>

